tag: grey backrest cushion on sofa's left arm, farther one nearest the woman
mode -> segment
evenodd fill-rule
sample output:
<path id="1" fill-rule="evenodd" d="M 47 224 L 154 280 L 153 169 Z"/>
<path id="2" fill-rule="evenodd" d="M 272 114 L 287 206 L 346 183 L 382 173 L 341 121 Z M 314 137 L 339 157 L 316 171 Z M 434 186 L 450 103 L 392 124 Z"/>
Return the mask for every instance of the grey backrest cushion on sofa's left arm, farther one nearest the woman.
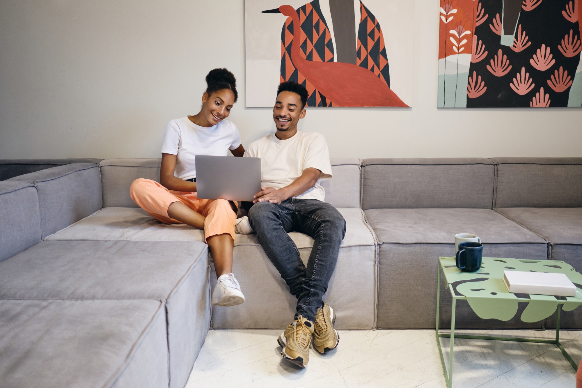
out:
<path id="1" fill-rule="evenodd" d="M 10 178 L 37 187 L 42 238 L 102 207 L 101 175 L 95 163 L 72 163 Z"/>

